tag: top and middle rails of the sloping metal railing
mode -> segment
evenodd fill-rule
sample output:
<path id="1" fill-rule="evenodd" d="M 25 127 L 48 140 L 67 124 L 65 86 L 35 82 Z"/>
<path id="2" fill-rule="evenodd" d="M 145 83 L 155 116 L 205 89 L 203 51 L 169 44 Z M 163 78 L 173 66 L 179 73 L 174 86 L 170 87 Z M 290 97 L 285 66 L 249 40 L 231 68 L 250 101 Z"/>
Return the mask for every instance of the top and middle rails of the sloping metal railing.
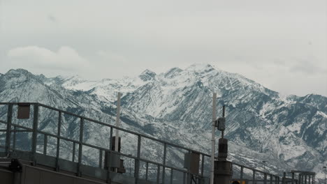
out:
<path id="1" fill-rule="evenodd" d="M 24 105 L 26 105 L 26 104 L 29 104 L 29 105 L 34 105 L 34 107 L 45 107 L 45 108 L 47 108 L 47 109 L 52 109 L 52 110 L 54 110 L 54 111 L 56 111 L 56 112 L 59 112 L 59 114 L 60 114 L 60 116 L 59 116 L 59 122 L 61 122 L 61 114 L 63 113 L 63 114 L 68 114 L 68 115 L 71 115 L 71 116 L 75 116 L 76 118 L 80 118 L 80 120 L 81 120 L 81 124 L 80 125 L 82 125 L 82 127 L 83 127 L 83 125 L 85 124 L 85 120 L 86 121 L 90 121 L 90 122 L 92 122 L 92 123 L 97 123 L 97 124 L 99 124 L 99 125 L 104 125 L 104 126 L 107 126 L 107 127 L 109 127 L 110 128 L 110 137 L 112 137 L 112 129 L 117 129 L 117 130 L 122 130 L 123 132 L 127 132 L 127 133 L 129 133 L 129 134 L 132 134 L 132 135 L 137 135 L 138 137 L 139 137 L 139 139 L 140 138 L 146 138 L 146 139 L 150 139 L 150 140 L 152 140 L 152 141 L 156 141 L 156 142 L 159 142 L 159 143 L 161 143 L 161 144 L 163 144 L 164 146 L 165 146 L 165 149 L 164 149 L 164 153 L 163 153 L 163 155 L 166 155 L 166 146 L 168 145 L 168 146 L 173 146 L 173 147 L 175 147 L 175 148 L 181 148 L 181 149 L 183 149 L 183 150 L 185 150 L 185 151 L 189 151 L 189 152 L 193 152 L 193 153 L 198 153 L 198 154 L 200 154 L 200 155 L 202 155 L 202 159 L 201 159 L 201 162 L 202 162 L 202 164 L 201 164 L 201 174 L 199 174 L 199 175 L 196 175 L 196 177 L 198 177 L 198 178 L 200 178 L 200 177 L 203 177 L 203 163 L 204 163 L 204 157 L 208 157 L 208 158 L 210 158 L 211 156 L 209 155 L 209 154 L 206 154 L 206 153 L 202 153 L 202 152 L 200 152 L 200 151 L 195 151 L 195 150 L 193 150 L 193 149 L 190 149 L 190 148 L 186 148 L 186 147 L 184 147 L 184 146 L 180 146 L 180 145 L 177 145 L 177 144 L 173 144 L 173 143 L 170 143 L 170 142 L 168 142 L 168 141 L 163 141 L 163 140 L 160 140 L 160 139 L 156 139 L 156 138 L 154 138 L 154 137 L 150 137 L 150 136 L 148 136 L 148 135 L 143 135 L 143 134 L 140 134 L 140 133 L 138 133 L 138 132 L 133 132 L 133 131 L 131 131 L 131 130 L 126 130 L 126 129 L 124 129 L 124 128 L 119 128 L 119 127 L 116 127 L 115 125 L 110 125 L 110 124 L 108 124 L 108 123 L 103 123 L 103 122 L 101 122 L 101 121 L 96 121 L 96 120 L 94 120 L 94 119 L 92 119 L 92 118 L 87 118 L 87 117 L 85 117 L 85 116 L 80 116 L 80 115 L 78 115 L 78 114 L 73 114 L 73 113 L 71 113 L 71 112 L 67 112 L 67 111 L 64 111 L 64 110 L 61 110 L 61 109 L 57 109 L 57 108 L 55 108 L 55 107 L 50 107 L 50 106 L 48 106 L 48 105 L 43 105 L 43 104 L 41 104 L 41 103 L 38 103 L 38 102 L 24 102 L 24 103 L 20 103 L 20 102 L 0 102 L 0 105 L 8 105 L 8 107 L 10 107 L 11 106 L 11 108 L 13 108 L 13 105 L 20 105 L 20 104 L 24 104 Z M 9 110 L 10 110 L 10 108 L 8 108 L 8 112 L 9 112 Z M 34 113 L 34 124 L 35 123 L 37 123 L 37 117 L 38 117 L 38 110 L 36 111 L 36 113 Z M 12 114 L 10 114 L 10 116 L 11 116 Z M 36 118 L 36 120 L 35 120 L 35 118 Z M 8 121 L 8 119 L 7 119 L 7 121 Z M 36 121 L 36 122 L 35 122 Z M 83 123 L 82 123 L 83 122 Z M 147 164 L 154 164 L 154 165 L 157 165 L 157 167 L 163 167 L 163 168 L 168 168 L 168 169 L 172 169 L 172 170 L 175 170 L 175 171 L 180 171 L 180 172 L 182 172 L 182 173 L 184 173 L 184 174 L 191 174 L 191 172 L 190 171 L 187 171 L 187 170 L 183 170 L 183 169 L 179 169 L 179 168 L 176 168 L 176 167 L 170 167 L 170 166 L 168 166 L 167 164 L 166 164 L 166 162 L 163 162 L 163 164 L 161 164 L 161 163 L 159 163 L 159 162 L 154 162 L 154 161 L 151 161 L 151 160 L 146 160 L 146 159 L 143 159 L 143 158 L 140 158 L 140 157 L 136 157 L 136 156 L 133 156 L 133 155 L 127 155 L 127 154 L 124 154 L 124 153 L 119 153 L 119 152 L 117 152 L 117 151 L 112 151 L 111 149 L 108 149 L 108 148 L 103 148 L 103 147 L 101 147 L 101 146 L 95 146 L 95 145 L 92 145 L 92 144 L 87 144 L 87 143 L 85 143 L 84 141 L 81 141 L 82 139 L 82 137 L 80 137 L 80 140 L 74 140 L 74 139 L 69 139 L 69 138 L 66 138 L 66 137 L 63 137 L 63 136 L 61 136 L 61 135 L 54 135 L 54 134 L 51 134 L 51 133 L 49 133 L 49 132 L 45 132 L 45 131 L 42 131 L 42 130 L 38 130 L 38 128 L 37 128 L 37 126 L 35 126 L 34 125 L 34 128 L 27 128 L 27 127 L 25 127 L 25 126 L 22 126 L 22 125 L 17 125 L 17 124 L 14 124 L 14 123 L 8 123 L 8 122 L 6 122 L 6 121 L 1 121 L 0 120 L 0 123 L 4 123 L 4 124 L 7 124 L 7 126 L 8 125 L 10 125 L 10 126 L 14 126 L 14 127 L 16 127 L 16 128 L 22 128 L 22 129 L 24 129 L 24 130 L 27 130 L 28 132 L 33 132 L 33 134 L 34 134 L 34 138 L 35 138 L 35 134 L 37 134 L 37 133 L 39 133 L 39 134 L 43 134 L 43 135 L 46 135 L 46 136 L 50 136 L 50 137 L 55 137 L 55 138 L 57 138 L 57 140 L 58 140 L 58 142 L 59 142 L 59 140 L 60 139 L 62 139 L 62 140 L 65 140 L 65 141 L 70 141 L 70 142 L 72 142 L 74 145 L 75 144 L 79 144 L 80 146 L 88 146 L 88 147 L 90 147 L 90 148 L 95 148 L 95 149 L 98 149 L 99 151 L 101 151 L 101 155 L 102 155 L 102 151 L 108 151 L 109 153 L 115 153 L 115 154 L 117 154 L 117 155 L 122 155 L 122 156 L 124 156 L 124 157 L 126 157 L 126 158 L 132 158 L 132 159 L 134 159 L 134 160 L 138 160 L 138 161 L 142 161 L 142 162 L 146 162 Z M 59 125 L 58 125 L 59 126 Z M 35 127 L 36 127 L 36 130 L 34 130 L 35 129 Z M 58 127 L 59 128 L 59 127 Z M 7 130 L 6 131 L 9 131 L 9 132 L 18 132 L 17 130 L 11 130 L 11 128 L 7 128 Z M 83 131 L 83 130 L 82 130 Z M 0 130 L 0 132 L 4 132 L 3 130 Z M 81 132 L 80 132 L 81 133 Z M 9 138 L 10 138 L 10 135 L 9 135 Z M 32 138 L 33 139 L 33 138 Z M 37 140 L 32 140 L 32 142 L 34 142 L 34 141 L 37 141 Z M 110 145 L 111 145 L 111 141 L 112 141 L 112 139 L 110 139 Z M 8 141 L 7 141 L 8 142 Z M 10 143 L 10 141 L 9 141 L 9 143 Z M 6 145 L 6 147 L 7 147 L 8 145 Z M 34 146 L 36 146 L 36 143 L 34 143 Z M 9 146 L 9 148 L 10 148 L 10 146 Z M 139 148 L 139 146 L 138 146 L 138 149 L 140 149 Z M 13 150 L 12 148 L 10 149 L 10 150 Z M 58 150 L 59 150 L 59 145 L 57 145 L 57 153 L 58 153 Z M 33 151 L 33 148 L 32 148 L 32 151 Z M 74 150 L 74 152 L 75 152 L 75 150 Z M 58 154 L 57 154 L 57 156 L 58 156 Z M 79 154 L 79 157 L 80 157 L 80 154 Z M 101 158 L 102 159 L 102 158 Z M 78 164 L 80 164 L 80 159 L 78 160 Z M 242 174 L 243 174 L 243 168 L 246 168 L 246 169 L 251 169 L 252 171 L 253 171 L 253 173 L 254 173 L 254 175 L 255 175 L 255 173 L 257 172 L 257 173 L 261 173 L 261 174 L 265 174 L 265 178 L 266 178 L 266 176 L 270 176 L 270 177 L 272 177 L 272 176 L 274 176 L 275 178 L 278 178 L 278 180 L 279 180 L 279 176 L 277 176 L 277 175 L 275 175 L 275 174 L 269 174 L 269 173 L 266 173 L 265 171 L 260 171 L 260 170 L 257 170 L 257 169 L 254 169 L 254 168 L 251 168 L 251 167 L 247 167 L 247 166 L 244 166 L 244 165 L 242 165 L 242 164 L 238 164 L 238 163 L 234 163 L 234 162 L 232 162 L 232 164 L 234 164 L 234 165 L 236 165 L 236 166 L 238 166 L 238 167 L 241 167 L 241 169 L 240 169 L 240 172 L 241 172 L 241 177 L 242 177 Z M 163 170 L 165 170 L 165 169 L 163 169 Z M 172 177 L 172 176 L 171 176 Z M 254 178 L 255 178 L 255 176 L 254 176 Z M 254 179 L 255 180 L 255 179 Z"/>

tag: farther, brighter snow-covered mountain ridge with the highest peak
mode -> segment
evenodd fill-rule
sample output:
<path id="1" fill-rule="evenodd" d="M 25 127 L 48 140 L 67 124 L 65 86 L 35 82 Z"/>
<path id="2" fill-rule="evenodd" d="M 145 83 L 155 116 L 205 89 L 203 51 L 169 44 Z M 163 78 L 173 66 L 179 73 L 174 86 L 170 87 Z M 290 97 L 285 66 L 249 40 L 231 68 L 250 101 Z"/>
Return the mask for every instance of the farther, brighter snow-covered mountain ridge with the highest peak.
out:
<path id="1" fill-rule="evenodd" d="M 24 73 L 23 70 L 21 72 Z M 167 75 L 168 73 L 172 75 Z M 151 72 L 150 74 L 153 75 Z M 7 73 L 5 75 L 8 77 Z M 324 158 L 327 155 L 327 98 L 322 95 L 309 94 L 303 97 L 289 95 L 281 98 L 276 91 L 266 89 L 242 75 L 233 75 L 208 65 L 194 65 L 184 70 L 171 68 L 145 81 L 138 77 L 126 77 L 122 80 L 106 79 L 92 82 L 76 80 L 75 83 L 69 83 L 71 81 L 66 78 L 68 83 L 60 83 L 54 78 L 35 76 L 45 86 L 51 86 L 52 90 L 58 91 L 57 93 L 67 89 L 65 93 L 71 94 L 73 92 L 69 91 L 73 90 L 89 102 L 95 100 L 99 104 L 94 106 L 95 109 L 101 107 L 101 103 L 111 103 L 111 107 L 115 108 L 115 93 L 112 91 L 121 89 L 124 94 L 122 107 L 128 111 L 128 114 L 138 116 L 136 121 L 143 121 L 143 123 L 137 122 L 141 127 L 150 123 L 147 120 L 159 124 L 162 121 L 173 126 L 176 131 L 184 128 L 188 133 L 197 134 L 201 132 L 203 134 L 203 131 L 208 131 L 210 128 L 212 91 L 217 91 L 217 105 L 219 105 L 217 114 L 221 114 L 221 105 L 226 105 L 228 118 L 226 137 L 231 140 L 231 144 L 235 144 L 232 146 L 233 151 L 237 150 L 236 145 L 244 146 L 251 148 L 252 155 L 264 153 L 270 155 L 270 160 L 283 160 L 288 165 L 280 162 L 277 163 L 279 167 L 284 165 L 283 167 L 303 167 L 318 171 L 320 164 L 326 163 Z M 15 75 L 11 77 L 15 79 Z M 3 75 L 0 75 L 0 84 L 1 82 L 6 83 Z M 3 98 L 1 86 L 0 100 L 3 101 L 6 99 Z M 21 88 L 21 86 L 15 87 Z M 85 89 L 82 89 L 83 87 Z M 112 91 L 108 92 L 108 89 Z M 89 98 L 88 95 L 94 97 Z M 85 107 L 89 106 L 85 105 Z M 131 125 L 137 126 L 137 123 Z M 154 130 L 158 131 L 156 128 Z M 163 139 L 166 138 L 165 135 L 169 137 L 167 135 L 169 132 L 159 132 L 163 135 Z M 159 132 L 154 135 L 158 136 Z M 275 134 L 267 138 L 271 132 Z M 201 140 L 196 145 L 207 147 L 209 144 L 205 140 L 209 139 L 209 136 L 196 135 L 196 139 Z M 291 148 L 294 150 L 289 150 Z M 233 159 L 242 160 L 235 152 L 231 154 L 234 154 Z"/>

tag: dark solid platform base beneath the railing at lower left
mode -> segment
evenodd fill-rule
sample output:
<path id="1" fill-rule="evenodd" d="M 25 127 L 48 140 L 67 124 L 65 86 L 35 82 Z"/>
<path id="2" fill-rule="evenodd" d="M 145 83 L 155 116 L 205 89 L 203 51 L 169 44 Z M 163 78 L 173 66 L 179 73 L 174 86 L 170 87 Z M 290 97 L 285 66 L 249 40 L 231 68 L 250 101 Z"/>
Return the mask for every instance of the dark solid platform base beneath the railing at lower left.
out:
<path id="1" fill-rule="evenodd" d="M 60 183 L 60 184 L 96 184 L 106 183 L 106 179 L 99 179 L 86 174 L 92 169 L 85 167 L 84 176 L 75 176 L 69 171 L 53 171 L 52 167 L 45 167 L 43 164 L 34 164 L 26 160 L 1 159 L 0 160 L 0 178 L 4 184 L 42 184 L 42 183 Z M 98 170 L 94 170 L 97 172 Z M 94 172 L 93 171 L 93 172 Z M 91 174 L 92 175 L 92 174 Z M 112 174 L 111 183 L 133 183 L 134 178 L 122 178 L 119 174 Z M 141 181 L 140 183 L 150 183 Z"/>

